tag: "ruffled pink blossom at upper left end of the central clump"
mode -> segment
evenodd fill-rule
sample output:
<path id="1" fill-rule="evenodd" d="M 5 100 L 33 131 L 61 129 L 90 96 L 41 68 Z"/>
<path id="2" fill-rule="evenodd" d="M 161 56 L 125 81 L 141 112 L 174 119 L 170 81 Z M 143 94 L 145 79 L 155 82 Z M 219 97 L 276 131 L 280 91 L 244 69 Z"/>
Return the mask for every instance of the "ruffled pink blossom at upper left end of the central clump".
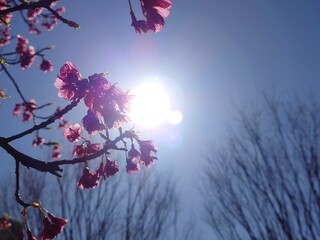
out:
<path id="1" fill-rule="evenodd" d="M 71 62 L 66 62 L 60 69 L 54 83 L 59 89 L 58 96 L 66 100 L 82 97 L 86 90 L 87 82 L 81 81 L 81 74 Z"/>

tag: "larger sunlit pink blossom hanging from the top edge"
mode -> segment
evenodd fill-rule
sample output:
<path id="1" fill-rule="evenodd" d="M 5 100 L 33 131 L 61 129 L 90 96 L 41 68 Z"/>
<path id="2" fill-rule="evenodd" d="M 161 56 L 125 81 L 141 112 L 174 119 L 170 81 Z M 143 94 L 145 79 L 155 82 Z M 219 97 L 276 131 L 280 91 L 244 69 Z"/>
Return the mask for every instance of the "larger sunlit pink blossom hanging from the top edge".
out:
<path id="1" fill-rule="evenodd" d="M 164 26 L 164 18 L 168 17 L 171 0 L 140 0 L 142 13 L 147 18 L 149 30 L 159 32 Z"/>

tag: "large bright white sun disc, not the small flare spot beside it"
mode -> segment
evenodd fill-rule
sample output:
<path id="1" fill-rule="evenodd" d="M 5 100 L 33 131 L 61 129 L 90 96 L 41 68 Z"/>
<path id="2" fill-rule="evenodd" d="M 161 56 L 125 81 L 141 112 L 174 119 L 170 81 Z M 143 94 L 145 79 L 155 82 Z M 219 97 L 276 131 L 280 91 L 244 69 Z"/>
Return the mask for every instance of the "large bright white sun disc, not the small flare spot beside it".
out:
<path id="1" fill-rule="evenodd" d="M 155 127 L 165 122 L 170 110 L 169 97 L 160 82 L 143 82 L 131 93 L 130 118 L 142 127 Z"/>

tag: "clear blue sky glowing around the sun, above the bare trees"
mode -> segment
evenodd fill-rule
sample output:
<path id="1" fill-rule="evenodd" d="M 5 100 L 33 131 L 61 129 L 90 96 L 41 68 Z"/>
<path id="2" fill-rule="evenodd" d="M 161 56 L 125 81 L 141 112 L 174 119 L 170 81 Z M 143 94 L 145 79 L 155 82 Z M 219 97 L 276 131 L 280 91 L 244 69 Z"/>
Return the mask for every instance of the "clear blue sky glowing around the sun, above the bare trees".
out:
<path id="1" fill-rule="evenodd" d="M 234 105 L 258 104 L 263 91 L 307 96 L 309 91 L 317 94 L 320 87 L 317 0 L 173 0 L 163 31 L 143 35 L 130 27 L 127 0 L 62 1 L 61 5 L 67 10 L 64 16 L 81 29 L 59 23 L 52 32 L 29 38 L 38 48 L 56 46 L 47 53 L 54 71 L 43 74 L 34 66 L 22 72 L 14 66 L 11 73 L 28 99 L 61 106 L 67 102 L 56 97 L 53 83 L 68 60 L 84 77 L 109 72 L 109 80 L 124 89 L 159 78 L 183 121 L 141 130 L 159 147 L 158 167 L 173 170 L 186 212 L 198 211 L 200 198 L 194 196 L 202 157 L 210 141 L 219 143 L 223 138 Z M 28 36 L 17 17 L 13 29 Z M 0 135 L 9 136 L 28 125 L 11 117 L 16 93 L 2 73 L 0 80 L 0 87 L 12 96 L 1 101 L 0 108 Z M 72 117 L 80 121 L 84 113 L 78 111 Z M 16 146 L 33 151 L 30 141 Z M 4 163 L 0 169 L 13 174 L 12 161 L 3 157 L 2 150 L 0 156 Z"/>

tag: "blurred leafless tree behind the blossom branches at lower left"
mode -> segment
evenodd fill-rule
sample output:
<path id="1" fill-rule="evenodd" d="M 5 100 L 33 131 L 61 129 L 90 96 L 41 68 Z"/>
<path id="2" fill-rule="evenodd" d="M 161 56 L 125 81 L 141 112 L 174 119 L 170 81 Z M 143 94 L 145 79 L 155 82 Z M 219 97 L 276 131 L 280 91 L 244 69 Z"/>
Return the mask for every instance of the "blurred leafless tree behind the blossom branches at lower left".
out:
<path id="1" fill-rule="evenodd" d="M 24 171 L 23 192 L 28 201 L 38 199 L 50 204 L 55 213 L 66 216 L 69 224 L 59 239 L 178 239 L 178 196 L 169 176 L 152 169 L 139 174 L 118 174 L 101 180 L 94 190 L 75 188 L 81 172 L 69 168 L 62 179 L 43 180 L 37 171 Z M 58 184 L 56 182 L 58 181 Z M 119 184 L 121 182 L 121 184 Z M 5 183 L 12 189 L 12 184 Z M 5 186 L 1 186 L 5 189 Z M 2 191 L 0 215 L 9 213 L 21 218 L 21 209 L 10 191 Z M 33 232 L 39 216 L 28 217 Z"/>

